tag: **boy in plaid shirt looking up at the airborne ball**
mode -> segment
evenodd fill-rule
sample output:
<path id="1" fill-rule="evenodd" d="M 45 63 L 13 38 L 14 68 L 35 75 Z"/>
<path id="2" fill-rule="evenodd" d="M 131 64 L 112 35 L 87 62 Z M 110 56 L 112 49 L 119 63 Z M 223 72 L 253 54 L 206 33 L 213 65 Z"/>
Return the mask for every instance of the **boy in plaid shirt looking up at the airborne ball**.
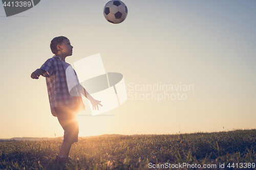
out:
<path id="1" fill-rule="evenodd" d="M 36 69 L 31 74 L 32 79 L 39 79 L 39 76 L 46 77 L 47 90 L 49 95 L 50 107 L 52 115 L 58 118 L 61 127 L 64 130 L 64 139 L 61 144 L 56 161 L 63 162 L 69 160 L 69 152 L 71 145 L 74 142 L 78 142 L 78 122 L 76 114 L 78 111 L 85 110 L 81 93 L 86 96 L 93 105 L 93 109 L 97 109 L 100 101 L 92 98 L 90 94 L 79 84 L 72 90 L 77 90 L 80 96 L 73 96 L 70 94 L 67 78 L 66 68 L 70 66 L 66 63 L 65 59 L 68 56 L 72 56 L 73 46 L 67 37 L 55 37 L 52 39 L 51 51 L 54 56 L 48 59 L 39 69 Z M 70 67 L 69 67 L 70 68 Z M 74 69 L 73 69 L 74 70 Z M 75 72 L 75 70 L 74 70 Z M 76 75 L 76 72 L 75 72 Z"/>

